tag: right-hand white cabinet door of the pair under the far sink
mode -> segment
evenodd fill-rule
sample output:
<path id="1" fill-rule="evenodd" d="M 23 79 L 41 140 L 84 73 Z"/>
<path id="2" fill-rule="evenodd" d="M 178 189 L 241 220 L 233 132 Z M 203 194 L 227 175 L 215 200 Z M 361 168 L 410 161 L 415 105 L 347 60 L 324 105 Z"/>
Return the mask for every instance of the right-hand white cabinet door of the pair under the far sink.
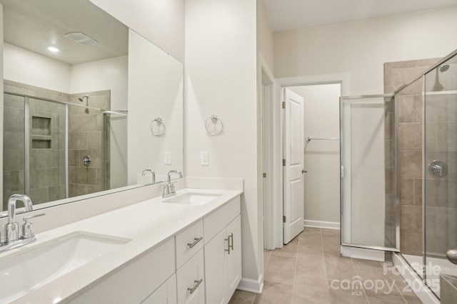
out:
<path id="1" fill-rule="evenodd" d="M 231 298 L 241 281 L 241 216 L 236 216 L 236 219 L 227 226 L 227 235 L 230 236 L 231 249 L 227 254 L 226 288 L 228 295 L 226 296 Z"/>

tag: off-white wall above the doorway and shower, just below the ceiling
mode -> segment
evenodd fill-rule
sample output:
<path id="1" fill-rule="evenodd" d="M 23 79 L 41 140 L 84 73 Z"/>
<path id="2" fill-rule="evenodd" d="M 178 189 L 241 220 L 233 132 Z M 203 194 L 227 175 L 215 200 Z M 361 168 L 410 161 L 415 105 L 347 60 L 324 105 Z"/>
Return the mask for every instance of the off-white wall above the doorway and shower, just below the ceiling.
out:
<path id="1" fill-rule="evenodd" d="M 275 76 L 351 73 L 351 94 L 383 93 L 383 63 L 457 48 L 457 6 L 274 34 Z"/>

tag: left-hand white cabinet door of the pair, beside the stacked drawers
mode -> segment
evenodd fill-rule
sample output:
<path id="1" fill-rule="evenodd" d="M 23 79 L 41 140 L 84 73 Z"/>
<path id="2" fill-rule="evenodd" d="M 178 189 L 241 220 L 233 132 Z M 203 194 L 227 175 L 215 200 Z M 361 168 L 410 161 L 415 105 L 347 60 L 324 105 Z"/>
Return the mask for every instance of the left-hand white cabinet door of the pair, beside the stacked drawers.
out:
<path id="1" fill-rule="evenodd" d="M 229 301 L 226 298 L 226 229 L 214 236 L 209 243 L 206 243 L 205 250 L 205 290 L 206 303 L 225 304 Z"/>

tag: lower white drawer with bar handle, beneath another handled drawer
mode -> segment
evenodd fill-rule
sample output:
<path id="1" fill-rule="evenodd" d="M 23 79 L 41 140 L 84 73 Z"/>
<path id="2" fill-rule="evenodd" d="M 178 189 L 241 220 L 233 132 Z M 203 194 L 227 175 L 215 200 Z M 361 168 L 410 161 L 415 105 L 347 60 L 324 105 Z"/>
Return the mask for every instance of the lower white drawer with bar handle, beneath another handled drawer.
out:
<path id="1" fill-rule="evenodd" d="M 203 249 L 177 271 L 178 304 L 199 304 L 205 295 Z"/>

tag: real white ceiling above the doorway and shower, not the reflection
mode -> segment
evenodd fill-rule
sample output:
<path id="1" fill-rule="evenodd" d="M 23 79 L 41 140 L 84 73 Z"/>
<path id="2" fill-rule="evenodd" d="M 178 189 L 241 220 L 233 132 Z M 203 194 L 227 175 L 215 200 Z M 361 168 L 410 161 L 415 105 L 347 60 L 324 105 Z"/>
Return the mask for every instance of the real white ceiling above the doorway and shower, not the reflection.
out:
<path id="1" fill-rule="evenodd" d="M 272 31 L 323 26 L 457 5 L 457 0 L 263 0 Z"/>

